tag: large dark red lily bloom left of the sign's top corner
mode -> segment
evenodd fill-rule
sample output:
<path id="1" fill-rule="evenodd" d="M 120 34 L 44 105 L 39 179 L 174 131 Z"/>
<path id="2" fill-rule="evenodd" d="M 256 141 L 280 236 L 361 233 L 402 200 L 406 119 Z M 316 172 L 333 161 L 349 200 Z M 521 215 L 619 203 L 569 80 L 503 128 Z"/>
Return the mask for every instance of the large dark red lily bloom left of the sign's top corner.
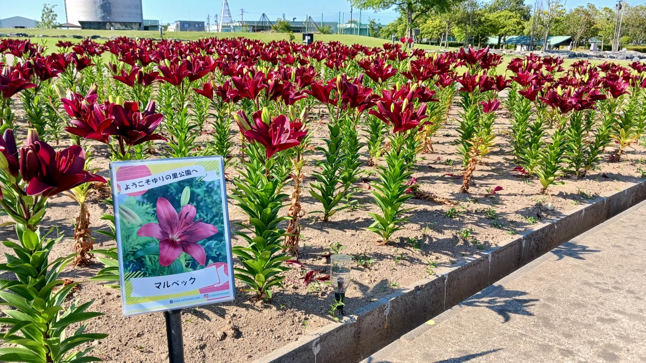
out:
<path id="1" fill-rule="evenodd" d="M 28 195 L 45 198 L 88 182 L 105 179 L 85 171 L 85 151 L 78 145 L 54 151 L 45 141 L 35 141 L 20 149 L 20 172 L 28 183 Z"/>

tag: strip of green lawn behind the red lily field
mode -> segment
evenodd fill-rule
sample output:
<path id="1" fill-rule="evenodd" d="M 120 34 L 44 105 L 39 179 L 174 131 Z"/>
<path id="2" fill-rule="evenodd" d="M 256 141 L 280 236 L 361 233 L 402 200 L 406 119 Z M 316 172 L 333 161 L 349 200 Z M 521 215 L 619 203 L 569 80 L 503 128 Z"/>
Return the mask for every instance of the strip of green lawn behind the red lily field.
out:
<path id="1" fill-rule="evenodd" d="M 78 42 L 81 39 L 74 39 L 72 36 L 101 36 L 109 38 L 111 36 L 127 36 L 127 37 L 150 37 L 150 38 L 159 38 L 159 32 L 150 32 L 150 31 L 135 31 L 135 30 L 67 30 L 67 29 L 3 29 L 0 28 L 0 33 L 25 33 L 30 36 L 30 39 L 34 42 L 45 43 L 47 45 L 53 46 L 59 40 L 63 41 L 73 41 Z M 39 35 L 44 35 L 48 37 L 38 37 Z M 52 36 L 66 36 L 64 38 L 50 38 Z M 164 32 L 164 37 L 176 38 L 182 40 L 194 40 L 201 39 L 206 37 L 247 37 L 249 39 L 260 39 L 262 41 L 268 42 L 279 39 L 287 39 L 286 33 L 213 33 L 213 32 Z M 301 40 L 300 34 L 294 34 L 296 41 Z M 380 47 L 384 43 L 388 43 L 386 39 L 379 39 L 366 36 L 349 36 L 349 35 L 337 35 L 337 34 L 315 34 L 315 40 L 320 40 L 324 42 L 329 41 L 340 41 L 346 45 L 353 45 L 359 43 L 366 45 L 368 47 Z M 99 42 L 104 41 L 103 39 L 98 39 Z M 416 45 L 415 47 L 424 48 L 424 49 L 438 49 L 439 47 L 435 45 Z"/>

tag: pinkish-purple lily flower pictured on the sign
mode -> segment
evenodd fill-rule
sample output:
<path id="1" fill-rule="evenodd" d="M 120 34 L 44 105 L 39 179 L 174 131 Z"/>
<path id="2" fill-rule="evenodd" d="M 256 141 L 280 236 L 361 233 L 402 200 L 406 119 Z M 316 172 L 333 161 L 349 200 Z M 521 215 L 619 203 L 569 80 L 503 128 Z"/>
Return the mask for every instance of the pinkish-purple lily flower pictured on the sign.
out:
<path id="1" fill-rule="evenodd" d="M 204 247 L 198 242 L 218 233 L 217 227 L 202 220 L 195 220 L 197 209 L 186 204 L 178 214 L 166 198 L 157 200 L 157 222 L 139 227 L 137 235 L 152 237 L 160 241 L 162 266 L 169 266 L 182 252 L 193 257 L 198 264 L 206 264 Z"/>

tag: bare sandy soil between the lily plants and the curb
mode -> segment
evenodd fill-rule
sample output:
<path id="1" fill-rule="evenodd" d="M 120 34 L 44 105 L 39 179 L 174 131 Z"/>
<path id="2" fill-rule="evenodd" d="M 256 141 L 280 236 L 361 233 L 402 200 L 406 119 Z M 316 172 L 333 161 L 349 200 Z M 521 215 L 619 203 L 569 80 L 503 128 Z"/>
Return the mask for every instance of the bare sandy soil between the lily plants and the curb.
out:
<path id="1" fill-rule="evenodd" d="M 541 187 L 537 180 L 514 175 L 516 165 L 509 139 L 505 136 L 508 122 L 505 110 L 499 110 L 496 126 L 499 149 L 486 160 L 485 165 L 477 167 L 470 194 L 460 194 L 461 167 L 452 144 L 457 139 L 456 116 L 457 110 L 453 109 L 450 121 L 435 138 L 435 153 L 422 154 L 413 175 L 422 190 L 452 200 L 457 203 L 454 207 L 411 199 L 407 207 L 415 209 L 409 214 L 410 223 L 395 235 L 395 243 L 384 246 L 376 245 L 377 235 L 366 231 L 372 222 L 367 213 L 377 210 L 371 204 L 371 194 L 366 189 L 357 191 L 355 208 L 335 214 L 331 222 L 319 222 L 313 214 L 302 220 L 300 261 L 309 269 L 329 267 L 329 259 L 325 255 L 331 242 L 342 244 L 342 253 L 371 260 L 353 270 L 353 283 L 346 295 L 346 313 L 432 274 L 434 266 L 452 265 L 479 249 L 505 244 L 516 238 L 517 233 L 531 229 L 532 224 L 556 218 L 578 204 L 588 203 L 597 196 L 608 196 L 641 181 L 638 167 L 646 150 L 634 145 L 635 149 L 629 150 L 629 157 L 635 163 L 625 159 L 618 163 L 604 161 L 598 170 L 582 180 L 563 178 L 563 185 L 551 187 L 551 195 L 543 196 L 539 194 Z M 317 126 L 318 115 L 313 114 L 312 118 L 315 120 L 311 122 L 311 130 L 315 131 L 312 143 L 323 145 L 322 138 L 327 136 L 326 119 Z M 208 135 L 202 136 L 202 140 L 207 138 Z M 162 145 L 158 148 L 161 150 Z M 610 151 L 611 148 L 605 156 Z M 367 154 L 365 148 L 362 152 Z M 94 145 L 94 156 L 94 166 L 103 167 L 100 174 L 107 176 L 107 149 L 103 145 Z M 306 157 L 310 161 L 317 158 L 320 158 L 318 153 Z M 365 162 L 366 158 L 362 161 Z M 366 178 L 362 185 L 365 186 L 369 180 L 375 180 L 375 173 L 365 163 L 362 169 Z M 312 170 L 313 162 L 306 169 L 306 183 L 312 181 Z M 235 175 L 234 171 L 230 172 Z M 498 186 L 503 189 L 485 196 Z M 229 190 L 232 187 L 227 183 Z M 306 213 L 320 208 L 309 197 L 307 189 L 306 186 L 302 194 L 302 207 Z M 99 217 L 101 213 L 112 213 L 112 207 L 93 200 L 89 210 L 93 229 L 107 229 L 107 223 Z M 55 247 L 53 257 L 72 252 L 72 218 L 77 213 L 78 206 L 65 196 L 50 201 L 43 228 L 57 226 L 67 236 Z M 233 204 L 229 205 L 229 213 L 233 230 L 239 230 L 233 223 L 244 222 L 244 214 Z M 5 222 L 6 217 L 1 220 Z M 0 238 L 15 240 L 12 231 L 6 227 L 0 231 Z M 95 236 L 96 248 L 116 246 L 114 241 L 102 235 Z M 234 245 L 242 243 L 242 238 L 234 237 Z M 0 252 L 8 252 L 8 249 L 0 246 Z M 68 266 L 63 277 L 85 281 L 100 268 L 100 264 Z M 305 271 L 297 268 L 286 273 L 284 289 L 276 289 L 275 297 L 267 304 L 254 302 L 250 295 L 238 291 L 236 300 L 229 304 L 185 309 L 182 320 L 186 361 L 249 362 L 333 321 L 328 314 L 333 303 L 331 288 L 325 284 L 302 285 Z M 73 296 L 81 302 L 96 300 L 91 308 L 105 313 L 105 316 L 89 322 L 89 331 L 110 334 L 108 338 L 92 343 L 92 355 L 108 362 L 161 362 L 166 359 L 163 314 L 124 317 L 121 315 L 119 291 L 96 282 L 85 282 Z"/>

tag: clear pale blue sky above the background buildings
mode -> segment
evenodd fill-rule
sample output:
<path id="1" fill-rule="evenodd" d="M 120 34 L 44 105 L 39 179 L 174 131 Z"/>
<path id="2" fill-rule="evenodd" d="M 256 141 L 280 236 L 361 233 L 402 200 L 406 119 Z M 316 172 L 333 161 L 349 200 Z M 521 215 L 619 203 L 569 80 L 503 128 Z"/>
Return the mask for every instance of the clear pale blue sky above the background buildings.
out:
<path id="1" fill-rule="evenodd" d="M 644 0 L 629 0 L 633 5 L 643 3 Z M 64 0 L 0 0 L 0 19 L 12 16 L 23 16 L 30 19 L 39 19 L 43 3 L 57 5 L 54 10 L 58 14 L 59 23 L 65 23 L 65 4 Z M 533 3 L 533 1 L 527 1 Z M 566 8 L 574 8 L 579 5 L 593 3 L 596 6 L 612 6 L 615 1 L 612 0 L 567 0 Z M 306 16 L 311 16 L 314 21 L 320 21 L 321 14 L 324 21 L 338 21 L 339 12 L 342 17 L 348 20 L 350 17 L 350 4 L 344 0 L 229 0 L 231 16 L 234 21 L 240 20 L 240 9 L 244 9 L 244 19 L 246 21 L 256 21 L 267 14 L 271 21 L 282 17 L 285 14 L 286 19 L 294 17 L 297 20 L 304 20 Z M 356 9 L 355 9 L 356 10 Z M 211 16 L 213 23 L 214 14 L 220 16 L 222 11 L 222 2 L 220 0 L 143 0 L 143 18 L 157 19 L 162 23 L 172 23 L 176 20 L 206 20 L 207 14 Z M 353 12 L 353 19 L 359 19 L 359 12 Z M 398 16 L 394 10 L 384 10 L 381 12 L 362 11 L 362 23 L 368 22 L 369 18 L 374 18 L 381 24 L 388 24 Z"/>

